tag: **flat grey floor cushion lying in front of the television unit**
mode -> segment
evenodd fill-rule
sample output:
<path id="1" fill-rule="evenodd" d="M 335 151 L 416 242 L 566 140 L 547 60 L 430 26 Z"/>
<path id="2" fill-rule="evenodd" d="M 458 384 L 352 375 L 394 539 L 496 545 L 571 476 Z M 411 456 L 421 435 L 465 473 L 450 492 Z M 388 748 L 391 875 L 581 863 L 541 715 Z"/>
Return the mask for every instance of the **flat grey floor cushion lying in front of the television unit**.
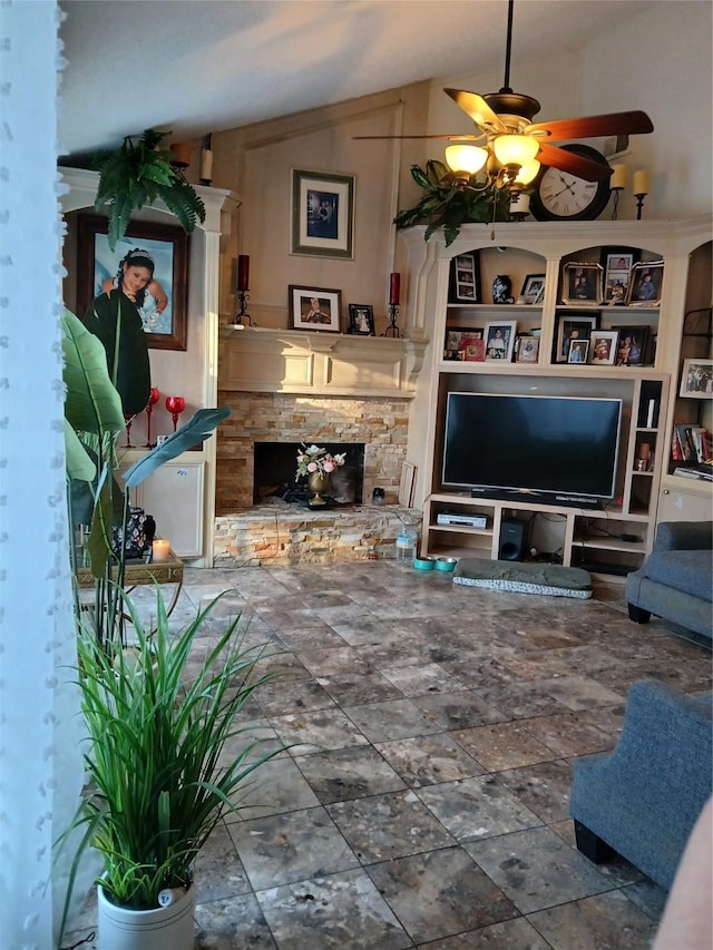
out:
<path id="1" fill-rule="evenodd" d="M 578 567 L 556 564 L 521 564 L 461 558 L 453 571 L 453 584 L 488 587 L 517 594 L 548 594 L 554 597 L 592 597 L 592 578 Z"/>

